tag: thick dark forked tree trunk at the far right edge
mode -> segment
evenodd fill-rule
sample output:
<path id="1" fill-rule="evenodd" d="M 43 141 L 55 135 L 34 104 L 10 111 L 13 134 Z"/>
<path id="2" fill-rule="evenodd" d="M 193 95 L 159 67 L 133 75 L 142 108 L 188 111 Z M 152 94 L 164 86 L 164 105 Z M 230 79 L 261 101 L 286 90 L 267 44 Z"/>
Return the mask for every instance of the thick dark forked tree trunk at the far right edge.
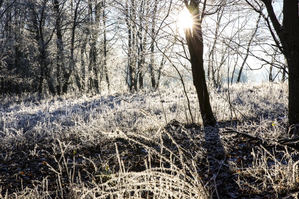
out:
<path id="1" fill-rule="evenodd" d="M 298 0 L 283 1 L 283 25 L 279 23 L 275 15 L 272 1 L 262 0 L 262 2 L 267 8 L 268 16 L 281 42 L 282 53 L 287 60 L 289 73 L 288 123 L 292 132 L 298 135 L 299 127 L 296 125 L 299 124 L 299 2 Z"/>

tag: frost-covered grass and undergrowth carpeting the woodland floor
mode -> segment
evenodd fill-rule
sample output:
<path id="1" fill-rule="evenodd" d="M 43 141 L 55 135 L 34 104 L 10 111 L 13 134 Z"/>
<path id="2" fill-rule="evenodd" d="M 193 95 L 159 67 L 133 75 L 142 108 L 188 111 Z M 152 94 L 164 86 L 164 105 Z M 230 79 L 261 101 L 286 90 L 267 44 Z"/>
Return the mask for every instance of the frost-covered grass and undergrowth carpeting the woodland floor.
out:
<path id="1" fill-rule="evenodd" d="M 229 92 L 227 87 L 211 89 L 211 106 L 219 121 L 211 128 L 171 127 L 173 120 L 191 122 L 187 99 L 179 88 L 159 91 L 160 95 L 146 91 L 2 97 L 0 173 L 8 169 L 15 176 L 0 177 L 0 198 L 209 198 L 220 194 L 217 186 L 226 179 L 236 182 L 235 188 L 240 186 L 231 190 L 239 197 L 281 197 L 296 191 L 297 150 L 266 149 L 222 133 L 225 127 L 233 127 L 273 143 L 292 136 L 286 131 L 286 83 L 234 84 Z M 192 117 L 200 124 L 193 88 L 188 97 Z M 207 157 L 204 137 L 209 131 L 219 133 L 225 162 Z M 29 167 L 13 170 L 12 164 L 4 163 L 21 165 L 26 158 L 36 161 L 35 173 Z M 219 165 L 219 172 L 209 176 L 213 164 Z M 230 177 L 219 180 L 221 165 L 227 166 Z M 10 178 L 19 179 L 20 186 L 7 186 Z"/>

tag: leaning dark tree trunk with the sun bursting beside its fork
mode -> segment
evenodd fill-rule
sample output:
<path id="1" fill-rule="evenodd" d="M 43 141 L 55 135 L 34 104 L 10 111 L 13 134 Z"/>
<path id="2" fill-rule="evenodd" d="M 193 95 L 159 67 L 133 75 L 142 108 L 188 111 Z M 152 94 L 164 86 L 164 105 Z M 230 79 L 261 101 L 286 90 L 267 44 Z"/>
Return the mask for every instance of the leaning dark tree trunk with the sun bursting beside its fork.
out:
<path id="1" fill-rule="evenodd" d="M 198 9 L 198 3 L 191 0 L 187 8 L 193 16 L 192 30 L 190 28 L 185 30 L 187 45 L 190 53 L 190 62 L 193 76 L 193 84 L 195 86 L 197 97 L 199 101 L 200 113 L 204 125 L 215 125 L 216 119 L 214 117 L 209 92 L 206 86 L 206 75 L 203 67 L 203 38 L 202 38 L 202 18 L 205 12 L 206 0 L 203 4 L 202 12 Z"/>

